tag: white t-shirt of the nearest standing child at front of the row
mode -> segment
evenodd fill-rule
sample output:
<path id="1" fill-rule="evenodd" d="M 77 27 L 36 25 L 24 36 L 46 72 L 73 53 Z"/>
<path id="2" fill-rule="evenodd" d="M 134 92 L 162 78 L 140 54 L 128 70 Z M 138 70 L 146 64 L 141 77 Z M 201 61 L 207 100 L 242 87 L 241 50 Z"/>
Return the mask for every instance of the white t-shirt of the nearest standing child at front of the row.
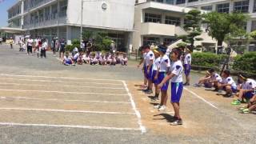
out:
<path id="1" fill-rule="evenodd" d="M 183 82 L 182 80 L 182 61 L 178 60 L 176 62 L 172 62 L 170 66 L 170 71 L 172 74 L 175 74 L 173 78 L 171 78 L 171 82 Z"/>

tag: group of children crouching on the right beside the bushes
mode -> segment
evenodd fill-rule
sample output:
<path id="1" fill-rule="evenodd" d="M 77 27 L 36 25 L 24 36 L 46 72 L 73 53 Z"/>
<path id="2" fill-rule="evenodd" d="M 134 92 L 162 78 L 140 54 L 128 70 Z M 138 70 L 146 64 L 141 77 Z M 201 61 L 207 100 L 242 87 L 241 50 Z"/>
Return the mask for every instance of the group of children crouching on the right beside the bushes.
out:
<path id="1" fill-rule="evenodd" d="M 248 103 L 246 107 L 240 109 L 242 113 L 250 113 L 256 110 L 256 81 L 246 77 L 245 74 L 238 74 L 237 84 L 230 76 L 230 70 L 224 70 L 221 77 L 215 73 L 214 69 L 210 69 L 206 71 L 206 77 L 200 78 L 194 86 L 214 87 L 214 91 L 221 92 L 225 90 L 227 97 L 237 96 L 238 99 L 234 99 L 231 102 L 232 105 L 241 105 L 242 102 Z"/>

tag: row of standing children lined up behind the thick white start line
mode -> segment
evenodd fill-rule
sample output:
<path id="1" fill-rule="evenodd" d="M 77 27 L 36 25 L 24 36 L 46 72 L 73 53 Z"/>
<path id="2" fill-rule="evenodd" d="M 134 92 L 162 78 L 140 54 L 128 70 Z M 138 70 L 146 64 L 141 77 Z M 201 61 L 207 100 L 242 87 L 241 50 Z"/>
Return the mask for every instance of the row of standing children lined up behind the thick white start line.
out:
<path id="1" fill-rule="evenodd" d="M 166 110 L 166 102 L 168 99 L 167 90 L 170 83 L 170 99 L 174 107 L 174 121 L 170 124 L 172 126 L 182 125 L 182 118 L 180 115 L 180 100 L 182 98 L 183 80 L 182 80 L 182 50 L 174 48 L 170 52 L 170 56 L 166 54 L 166 46 L 158 46 L 157 49 L 150 50 L 150 46 L 142 46 L 143 60 L 138 67 L 143 63 L 143 74 L 145 77 L 144 84 L 146 94 L 153 93 L 153 84 L 155 87 L 155 95 L 153 101 L 157 101 L 161 93 L 161 101 L 155 109 Z M 169 53 L 168 53 L 169 54 Z M 171 82 L 169 82 L 171 81 Z"/>

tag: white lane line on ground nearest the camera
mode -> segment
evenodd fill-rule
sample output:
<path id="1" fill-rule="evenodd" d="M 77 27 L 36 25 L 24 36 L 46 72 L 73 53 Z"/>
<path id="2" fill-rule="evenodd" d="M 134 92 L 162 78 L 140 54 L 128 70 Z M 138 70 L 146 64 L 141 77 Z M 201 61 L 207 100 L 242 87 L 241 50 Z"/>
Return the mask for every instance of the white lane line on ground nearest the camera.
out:
<path id="1" fill-rule="evenodd" d="M 106 127 L 106 126 L 79 126 L 79 125 L 48 125 L 48 124 L 24 124 L 24 123 L 10 123 L 0 122 L 2 126 L 44 126 L 44 127 L 61 127 L 61 128 L 79 128 L 91 130 L 140 130 L 136 128 L 122 128 L 122 127 Z"/>

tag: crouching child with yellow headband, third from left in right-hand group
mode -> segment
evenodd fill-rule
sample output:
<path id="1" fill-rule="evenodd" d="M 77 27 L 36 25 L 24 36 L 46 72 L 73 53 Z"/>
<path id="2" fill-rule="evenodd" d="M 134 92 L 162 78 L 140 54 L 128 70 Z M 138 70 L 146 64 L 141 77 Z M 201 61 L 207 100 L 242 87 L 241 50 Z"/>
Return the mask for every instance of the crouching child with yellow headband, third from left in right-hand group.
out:
<path id="1" fill-rule="evenodd" d="M 255 94 L 256 82 L 254 79 L 247 78 L 244 74 L 239 74 L 238 81 L 242 82 L 242 85 L 238 86 L 238 99 L 231 102 L 232 105 L 241 105 L 243 98 L 249 100 Z"/>

